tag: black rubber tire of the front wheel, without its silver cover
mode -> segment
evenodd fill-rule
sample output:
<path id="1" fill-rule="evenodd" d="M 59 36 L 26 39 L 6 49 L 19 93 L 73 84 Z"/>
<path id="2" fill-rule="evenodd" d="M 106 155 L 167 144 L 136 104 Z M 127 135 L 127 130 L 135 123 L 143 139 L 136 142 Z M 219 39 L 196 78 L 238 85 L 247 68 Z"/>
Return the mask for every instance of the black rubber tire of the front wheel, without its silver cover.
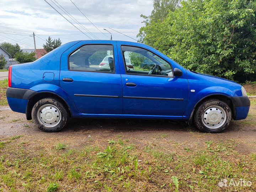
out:
<path id="1" fill-rule="evenodd" d="M 225 113 L 226 113 L 226 119 L 225 118 L 222 118 L 224 119 L 223 121 L 221 122 L 222 126 L 218 127 L 217 124 L 215 124 L 215 126 L 217 126 L 217 128 L 209 128 L 209 126 L 212 126 L 212 124 L 209 124 L 207 122 L 207 120 L 203 120 L 203 119 L 208 119 L 207 118 L 203 118 L 203 115 L 206 116 L 207 115 L 207 110 L 211 110 L 211 108 L 213 106 L 219 106 L 220 108 L 222 108 Z M 213 107 L 215 108 L 215 107 Z M 218 110 L 218 108 L 217 108 Z M 210 114 L 210 113 L 209 113 Z M 208 114 L 208 115 L 209 115 Z M 224 113 L 223 113 L 224 114 Z M 231 112 L 231 109 L 230 107 L 228 106 L 228 104 L 226 104 L 224 101 L 220 101 L 220 100 L 215 100 L 215 99 L 212 99 L 212 100 L 208 100 L 208 101 L 205 101 L 203 103 L 201 103 L 197 108 L 196 108 L 196 111 L 194 113 L 194 124 L 196 125 L 196 127 L 201 130 L 202 132 L 206 132 L 206 133 L 220 133 L 222 132 L 226 127 L 229 126 L 229 123 L 231 121 L 231 118 L 232 118 L 232 112 Z M 208 125 L 209 124 L 209 125 Z M 220 125 L 221 125 L 220 124 Z M 208 127 L 207 127 L 208 126 Z M 214 124 L 213 124 L 214 126 Z"/>

